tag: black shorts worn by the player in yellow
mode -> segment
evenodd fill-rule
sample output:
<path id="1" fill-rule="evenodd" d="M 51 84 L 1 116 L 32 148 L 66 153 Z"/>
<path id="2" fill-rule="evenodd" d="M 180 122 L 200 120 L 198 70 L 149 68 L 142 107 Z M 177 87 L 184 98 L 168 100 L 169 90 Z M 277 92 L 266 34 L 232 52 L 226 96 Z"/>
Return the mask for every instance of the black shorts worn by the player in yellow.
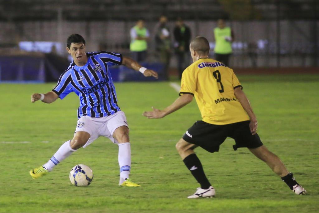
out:
<path id="1" fill-rule="evenodd" d="M 187 130 L 183 139 L 191 144 L 202 147 L 208 152 L 218 152 L 219 146 L 227 137 L 234 138 L 234 150 L 240 147 L 257 148 L 262 146 L 258 134 L 252 135 L 249 128 L 250 121 L 242 121 L 226 125 L 215 125 L 204 121 L 197 121 Z"/>

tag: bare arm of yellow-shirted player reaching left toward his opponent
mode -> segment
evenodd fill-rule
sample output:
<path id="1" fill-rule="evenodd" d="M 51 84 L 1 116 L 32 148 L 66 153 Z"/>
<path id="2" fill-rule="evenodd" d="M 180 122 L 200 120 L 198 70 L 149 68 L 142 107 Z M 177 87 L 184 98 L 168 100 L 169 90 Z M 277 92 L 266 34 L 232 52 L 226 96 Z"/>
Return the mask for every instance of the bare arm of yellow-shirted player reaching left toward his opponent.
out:
<path id="1" fill-rule="evenodd" d="M 144 112 L 142 115 L 144 115 L 147 118 L 163 118 L 168 114 L 171 114 L 175 112 L 176 110 L 182 108 L 189 102 L 193 100 L 193 95 L 191 94 L 183 94 L 182 96 L 178 97 L 173 104 L 170 106 L 167 106 L 163 110 L 156 109 L 152 107 L 153 111 Z"/>

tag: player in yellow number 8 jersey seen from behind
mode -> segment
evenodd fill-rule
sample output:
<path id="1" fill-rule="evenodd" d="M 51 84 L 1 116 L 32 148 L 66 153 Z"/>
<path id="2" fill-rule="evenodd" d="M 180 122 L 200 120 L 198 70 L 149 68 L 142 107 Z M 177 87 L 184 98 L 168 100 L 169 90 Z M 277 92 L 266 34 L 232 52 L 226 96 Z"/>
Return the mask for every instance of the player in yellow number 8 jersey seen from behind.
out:
<path id="1" fill-rule="evenodd" d="M 306 194 L 306 190 L 297 183 L 278 156 L 261 142 L 256 133 L 256 115 L 234 71 L 208 57 L 209 43 L 202 36 L 196 37 L 189 49 L 194 63 L 182 74 L 180 97 L 163 110 L 153 108 L 153 111 L 143 113 L 148 118 L 162 118 L 182 108 L 195 97 L 203 120 L 195 122 L 176 144 L 186 167 L 201 185 L 188 198 L 215 196 L 215 189 L 205 176 L 194 149 L 200 146 L 208 152 L 218 152 L 227 137 L 234 138 L 234 150 L 247 147 L 256 157 L 266 162 L 294 193 Z"/>

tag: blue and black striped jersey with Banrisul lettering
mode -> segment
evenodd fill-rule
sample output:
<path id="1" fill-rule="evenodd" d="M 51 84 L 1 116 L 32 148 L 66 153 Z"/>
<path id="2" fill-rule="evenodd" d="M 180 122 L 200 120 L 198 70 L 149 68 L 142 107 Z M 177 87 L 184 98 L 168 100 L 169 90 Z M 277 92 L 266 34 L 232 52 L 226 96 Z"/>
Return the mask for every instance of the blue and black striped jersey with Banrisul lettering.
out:
<path id="1" fill-rule="evenodd" d="M 60 99 L 70 92 L 80 98 L 78 118 L 106 117 L 120 110 L 109 66 L 121 65 L 119 53 L 100 51 L 86 53 L 87 63 L 78 67 L 74 61 L 61 74 L 54 91 Z"/>

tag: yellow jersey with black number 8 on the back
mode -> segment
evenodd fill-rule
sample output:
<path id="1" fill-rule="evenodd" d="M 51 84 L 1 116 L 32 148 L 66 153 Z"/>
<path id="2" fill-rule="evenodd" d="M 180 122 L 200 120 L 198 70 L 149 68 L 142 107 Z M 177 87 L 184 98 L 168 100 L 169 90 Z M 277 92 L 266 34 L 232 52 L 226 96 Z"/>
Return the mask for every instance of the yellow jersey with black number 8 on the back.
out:
<path id="1" fill-rule="evenodd" d="M 203 121 L 225 125 L 249 121 L 234 89 L 242 86 L 234 71 L 210 58 L 198 59 L 182 74 L 179 95 L 194 95 Z"/>

